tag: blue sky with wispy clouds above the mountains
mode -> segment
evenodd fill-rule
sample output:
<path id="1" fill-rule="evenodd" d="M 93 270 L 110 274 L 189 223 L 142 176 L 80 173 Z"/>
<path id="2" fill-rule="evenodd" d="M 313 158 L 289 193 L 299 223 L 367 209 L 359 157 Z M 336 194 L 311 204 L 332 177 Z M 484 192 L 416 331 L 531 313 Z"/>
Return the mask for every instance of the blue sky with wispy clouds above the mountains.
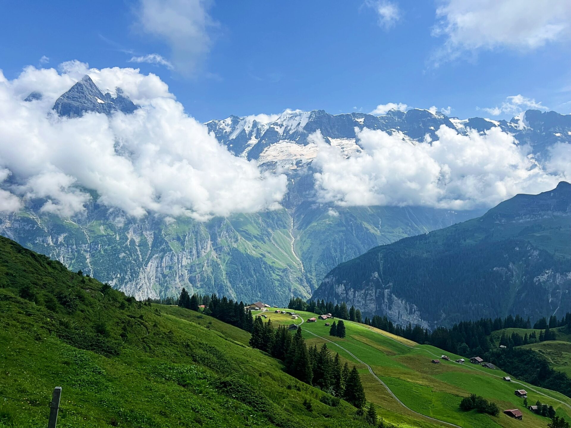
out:
<path id="1" fill-rule="evenodd" d="M 57 67 L 70 59 L 96 68 L 139 67 L 158 74 L 200 121 L 286 108 L 371 112 L 387 103 L 450 106 L 450 115 L 461 118 L 510 118 L 533 105 L 571 112 L 568 1 L 0 7 L 0 68 L 8 79 L 27 64 Z M 467 16 L 473 22 L 461 19 Z M 129 62 L 148 54 L 163 64 Z"/>

